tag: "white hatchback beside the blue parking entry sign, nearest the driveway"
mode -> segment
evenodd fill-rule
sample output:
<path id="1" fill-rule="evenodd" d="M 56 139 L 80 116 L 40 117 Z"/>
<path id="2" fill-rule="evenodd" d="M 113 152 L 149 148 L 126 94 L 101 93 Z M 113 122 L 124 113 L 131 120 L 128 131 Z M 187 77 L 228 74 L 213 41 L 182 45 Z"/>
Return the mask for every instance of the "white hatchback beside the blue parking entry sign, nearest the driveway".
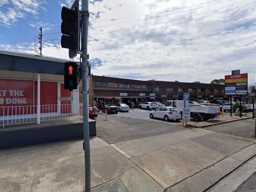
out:
<path id="1" fill-rule="evenodd" d="M 169 121 L 169 119 L 180 121 L 181 115 L 180 111 L 175 107 L 159 107 L 149 114 L 150 118 L 161 118 L 164 121 Z"/>

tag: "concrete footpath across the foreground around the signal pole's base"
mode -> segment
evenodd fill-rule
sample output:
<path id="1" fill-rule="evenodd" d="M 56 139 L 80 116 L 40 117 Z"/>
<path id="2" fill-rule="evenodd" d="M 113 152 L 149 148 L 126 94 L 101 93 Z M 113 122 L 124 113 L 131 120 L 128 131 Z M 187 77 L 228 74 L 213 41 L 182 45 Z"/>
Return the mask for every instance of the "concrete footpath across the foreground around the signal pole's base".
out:
<path id="1" fill-rule="evenodd" d="M 236 170 L 246 170 L 236 187 L 256 172 L 248 169 L 255 165 L 255 140 L 204 129 L 111 145 L 94 137 L 90 147 L 93 192 L 218 191 Z M 1 192 L 82 192 L 83 186 L 81 140 L 0 151 Z"/>

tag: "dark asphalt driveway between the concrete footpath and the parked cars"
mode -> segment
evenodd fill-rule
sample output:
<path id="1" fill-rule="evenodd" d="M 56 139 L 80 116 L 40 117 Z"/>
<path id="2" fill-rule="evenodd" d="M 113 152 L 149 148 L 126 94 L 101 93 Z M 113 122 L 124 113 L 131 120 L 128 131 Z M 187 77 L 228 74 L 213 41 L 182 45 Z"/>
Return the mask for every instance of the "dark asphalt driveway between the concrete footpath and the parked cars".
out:
<path id="1" fill-rule="evenodd" d="M 135 116 L 140 113 L 145 116 L 149 115 L 149 112 L 136 112 Z M 127 116 L 134 115 L 131 112 L 127 112 L 126 114 Z M 119 113 L 117 115 L 119 115 Z M 145 119 L 135 119 L 116 115 L 108 115 L 108 121 L 104 121 L 104 119 L 105 114 L 98 114 L 96 124 L 97 136 L 109 144 L 188 129 L 161 120 L 149 122 Z"/>

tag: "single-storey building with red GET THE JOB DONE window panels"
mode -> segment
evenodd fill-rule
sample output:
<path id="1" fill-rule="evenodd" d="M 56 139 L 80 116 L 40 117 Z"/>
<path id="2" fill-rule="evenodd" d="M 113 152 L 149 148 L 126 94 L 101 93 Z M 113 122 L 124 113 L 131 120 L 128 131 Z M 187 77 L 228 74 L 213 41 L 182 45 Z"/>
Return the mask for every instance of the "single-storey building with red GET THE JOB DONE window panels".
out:
<path id="1" fill-rule="evenodd" d="M 63 84 L 69 60 L 4 50 L 0 60 L 0 148 L 83 137 L 79 90 Z"/>

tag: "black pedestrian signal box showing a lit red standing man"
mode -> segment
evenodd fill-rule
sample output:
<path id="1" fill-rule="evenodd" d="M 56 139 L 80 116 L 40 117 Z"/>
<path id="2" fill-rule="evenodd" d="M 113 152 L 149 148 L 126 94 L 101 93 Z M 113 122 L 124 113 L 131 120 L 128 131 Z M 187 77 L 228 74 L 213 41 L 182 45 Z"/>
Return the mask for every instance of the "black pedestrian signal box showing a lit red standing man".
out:
<path id="1" fill-rule="evenodd" d="M 77 63 L 64 63 L 64 89 L 77 89 Z"/>

